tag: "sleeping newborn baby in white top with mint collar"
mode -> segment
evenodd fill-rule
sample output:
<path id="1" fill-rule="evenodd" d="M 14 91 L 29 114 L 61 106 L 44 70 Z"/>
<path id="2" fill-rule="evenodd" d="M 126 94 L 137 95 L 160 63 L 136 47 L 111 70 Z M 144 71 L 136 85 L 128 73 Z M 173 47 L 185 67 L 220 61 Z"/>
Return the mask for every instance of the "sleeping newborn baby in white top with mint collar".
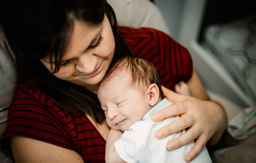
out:
<path id="1" fill-rule="evenodd" d="M 180 87 L 180 91 L 187 94 L 189 89 Z M 194 141 L 172 151 L 166 148 L 166 144 L 183 134 L 185 129 L 163 139 L 156 138 L 158 129 L 179 116 L 160 122 L 151 119 L 153 113 L 172 103 L 164 98 L 160 74 L 150 62 L 134 56 L 118 60 L 100 83 L 98 98 L 109 127 L 124 131 L 115 143 L 106 144 L 106 151 L 114 149 L 106 153 L 106 162 L 186 162 L 185 155 L 195 145 Z M 204 147 L 191 162 L 212 161 Z"/>

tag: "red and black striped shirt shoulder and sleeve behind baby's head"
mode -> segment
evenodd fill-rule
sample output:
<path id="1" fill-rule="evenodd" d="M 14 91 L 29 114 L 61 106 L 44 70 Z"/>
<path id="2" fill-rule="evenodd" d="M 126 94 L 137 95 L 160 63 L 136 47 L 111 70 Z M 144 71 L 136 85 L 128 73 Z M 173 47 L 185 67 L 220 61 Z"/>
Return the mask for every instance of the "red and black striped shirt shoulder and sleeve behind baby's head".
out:
<path id="1" fill-rule="evenodd" d="M 173 89 L 175 83 L 191 78 L 193 64 L 188 50 L 169 35 L 151 28 L 120 27 L 119 30 L 134 55 L 156 66 L 166 88 Z"/>

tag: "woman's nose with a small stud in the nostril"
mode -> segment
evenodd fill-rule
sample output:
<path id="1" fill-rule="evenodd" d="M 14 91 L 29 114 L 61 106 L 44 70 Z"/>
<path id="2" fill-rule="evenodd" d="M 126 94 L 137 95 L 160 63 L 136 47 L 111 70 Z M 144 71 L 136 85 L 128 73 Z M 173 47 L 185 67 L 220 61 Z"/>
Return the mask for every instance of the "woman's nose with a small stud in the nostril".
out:
<path id="1" fill-rule="evenodd" d="M 86 74 L 93 73 L 97 69 L 98 59 L 94 54 L 84 54 L 78 58 L 76 68 L 78 71 Z"/>

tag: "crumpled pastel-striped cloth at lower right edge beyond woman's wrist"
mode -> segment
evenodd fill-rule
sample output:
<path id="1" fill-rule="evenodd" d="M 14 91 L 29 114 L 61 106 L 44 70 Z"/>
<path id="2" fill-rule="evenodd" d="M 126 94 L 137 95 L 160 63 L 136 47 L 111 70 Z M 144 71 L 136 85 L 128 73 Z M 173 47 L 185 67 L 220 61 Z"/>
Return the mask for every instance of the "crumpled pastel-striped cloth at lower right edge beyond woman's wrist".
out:
<path id="1" fill-rule="evenodd" d="M 245 108 L 228 122 L 227 131 L 235 140 L 244 140 L 256 133 L 256 106 Z"/>

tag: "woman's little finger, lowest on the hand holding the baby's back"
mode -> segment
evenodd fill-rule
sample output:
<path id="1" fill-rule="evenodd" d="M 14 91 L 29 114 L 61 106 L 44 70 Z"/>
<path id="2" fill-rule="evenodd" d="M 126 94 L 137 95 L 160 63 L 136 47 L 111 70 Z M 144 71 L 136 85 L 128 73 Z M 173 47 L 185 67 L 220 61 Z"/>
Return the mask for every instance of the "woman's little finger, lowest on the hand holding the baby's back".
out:
<path id="1" fill-rule="evenodd" d="M 204 135 L 200 135 L 197 138 L 194 147 L 185 156 L 185 160 L 188 162 L 195 159 L 195 157 L 203 150 L 206 142 L 207 142 L 206 137 Z"/>

